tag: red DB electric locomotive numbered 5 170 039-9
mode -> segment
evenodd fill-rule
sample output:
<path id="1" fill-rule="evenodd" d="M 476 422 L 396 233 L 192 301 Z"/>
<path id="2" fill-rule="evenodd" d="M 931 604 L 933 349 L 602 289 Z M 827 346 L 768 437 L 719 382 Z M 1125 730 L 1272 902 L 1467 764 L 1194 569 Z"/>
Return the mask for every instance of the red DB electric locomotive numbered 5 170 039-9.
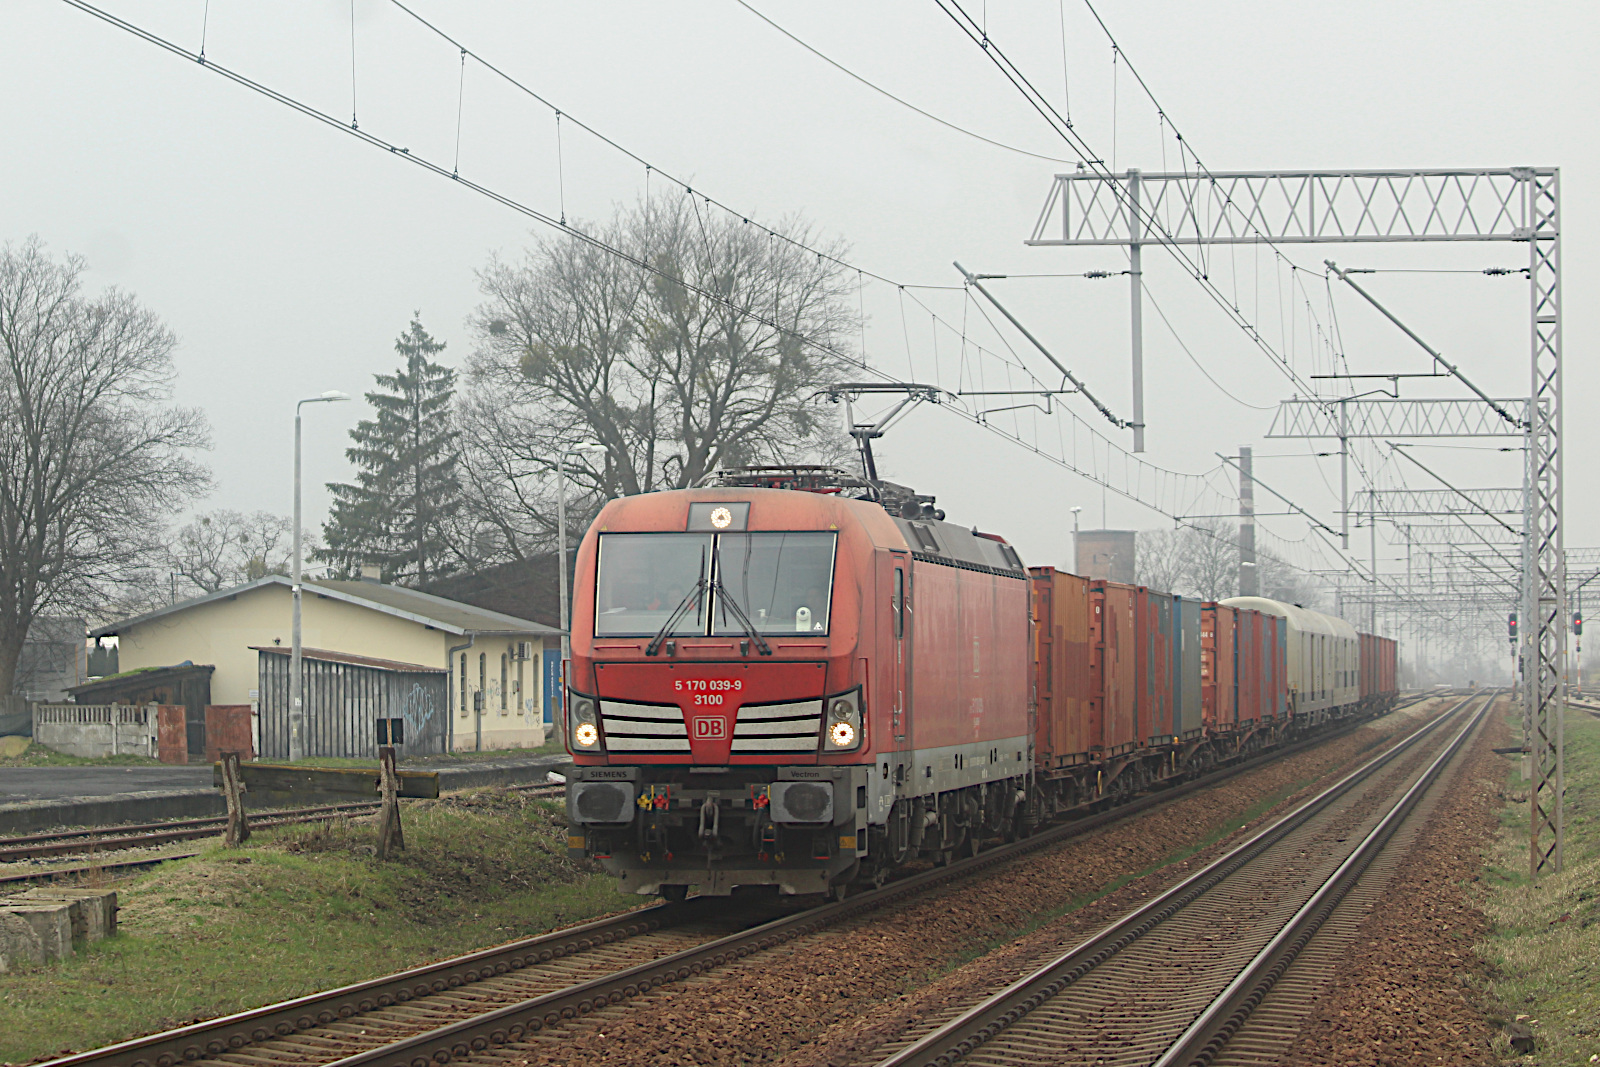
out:
<path id="1" fill-rule="evenodd" d="M 738 472 L 613 501 L 586 534 L 570 848 L 621 889 L 824 893 L 1021 819 L 1027 569 L 930 498 L 856 490 Z"/>

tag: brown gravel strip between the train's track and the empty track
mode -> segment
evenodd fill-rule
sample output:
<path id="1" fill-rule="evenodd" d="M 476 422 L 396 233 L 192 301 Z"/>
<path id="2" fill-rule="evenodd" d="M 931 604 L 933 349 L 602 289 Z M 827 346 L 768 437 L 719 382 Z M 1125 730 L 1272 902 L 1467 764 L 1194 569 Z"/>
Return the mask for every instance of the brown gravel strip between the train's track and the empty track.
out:
<path id="1" fill-rule="evenodd" d="M 1126 824 L 602 1009 L 480 1062 L 870 1062 L 885 1041 L 936 1025 L 1046 949 L 1059 950 L 1206 862 L 1224 846 L 1218 838 L 1262 816 L 1264 797 L 1306 792 L 1414 721 L 1392 715 L 1370 723 Z M 1184 853 L 1192 856 L 1171 862 Z"/>

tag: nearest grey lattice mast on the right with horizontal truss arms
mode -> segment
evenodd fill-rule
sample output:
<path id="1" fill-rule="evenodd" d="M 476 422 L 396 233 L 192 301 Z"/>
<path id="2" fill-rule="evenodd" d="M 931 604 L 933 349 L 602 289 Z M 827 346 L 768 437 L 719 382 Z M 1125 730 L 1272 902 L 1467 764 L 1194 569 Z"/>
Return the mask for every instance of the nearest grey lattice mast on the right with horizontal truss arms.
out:
<path id="1" fill-rule="evenodd" d="M 1152 226 L 1160 218 L 1160 226 Z M 1174 222 L 1176 219 L 1176 222 Z M 1029 245 L 1526 242 L 1530 397 L 1301 398 L 1272 437 L 1504 435 L 1526 411 L 1525 713 L 1531 873 L 1560 870 L 1566 579 L 1562 544 L 1560 171 L 1557 168 L 1058 174 Z M 1134 275 L 1134 285 L 1139 283 Z M 1138 368 L 1142 378 L 1142 365 Z M 1523 406 L 1525 405 L 1525 406 Z M 1142 422 L 1142 413 L 1134 419 Z M 1331 430 L 1331 432 L 1330 432 Z M 1376 574 L 1374 574 L 1376 579 Z M 1376 592 L 1376 587 L 1374 587 Z"/>

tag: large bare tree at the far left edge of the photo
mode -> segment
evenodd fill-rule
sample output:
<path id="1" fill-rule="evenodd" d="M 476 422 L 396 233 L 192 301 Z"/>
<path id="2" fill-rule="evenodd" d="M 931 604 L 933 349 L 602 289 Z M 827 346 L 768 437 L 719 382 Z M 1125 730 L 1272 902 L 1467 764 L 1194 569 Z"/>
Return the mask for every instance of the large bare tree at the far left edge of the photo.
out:
<path id="1" fill-rule="evenodd" d="M 170 403 L 173 333 L 82 259 L 0 250 L 0 693 L 42 614 L 99 614 L 208 483 L 198 411 Z"/>

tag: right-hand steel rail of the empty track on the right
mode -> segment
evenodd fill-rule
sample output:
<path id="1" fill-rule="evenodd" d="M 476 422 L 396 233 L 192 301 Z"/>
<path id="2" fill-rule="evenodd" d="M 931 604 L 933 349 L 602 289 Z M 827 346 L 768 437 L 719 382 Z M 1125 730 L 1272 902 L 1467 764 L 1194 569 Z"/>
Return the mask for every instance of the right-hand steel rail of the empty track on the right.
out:
<path id="1" fill-rule="evenodd" d="M 1491 694 L 1456 737 L 1445 745 L 1445 750 L 1422 771 L 1422 776 L 1411 784 L 1411 789 L 1362 838 L 1355 851 L 1346 856 L 1344 862 L 1317 886 L 1310 899 L 1274 934 L 1272 941 L 1245 965 L 1245 969 L 1227 984 L 1227 989 L 1218 993 L 1216 1000 L 1155 1061 L 1155 1067 L 1206 1065 L 1216 1059 L 1216 1054 L 1245 1025 L 1250 1013 L 1254 1011 L 1262 998 L 1272 992 L 1278 977 L 1294 963 L 1301 949 L 1317 934 L 1328 915 L 1333 913 L 1333 909 L 1339 905 L 1339 901 L 1362 880 L 1362 875 L 1384 849 L 1384 845 L 1389 843 L 1389 838 L 1394 837 L 1400 824 L 1410 817 L 1411 809 L 1416 808 L 1422 793 L 1438 779 L 1445 766 L 1466 744 L 1467 736 L 1488 715 L 1493 704 L 1494 696 Z"/>

